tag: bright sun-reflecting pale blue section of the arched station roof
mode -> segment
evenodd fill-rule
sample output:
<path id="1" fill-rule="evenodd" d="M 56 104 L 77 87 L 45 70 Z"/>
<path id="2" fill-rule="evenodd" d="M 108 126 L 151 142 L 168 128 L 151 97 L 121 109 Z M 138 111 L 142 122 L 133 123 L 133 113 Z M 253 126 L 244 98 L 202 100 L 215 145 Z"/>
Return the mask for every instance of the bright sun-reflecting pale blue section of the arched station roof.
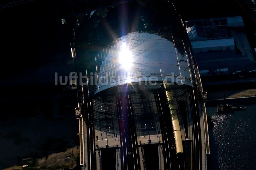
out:
<path id="1" fill-rule="evenodd" d="M 99 51 L 99 91 L 113 85 L 148 81 L 150 76 L 162 81 L 166 75 L 182 76 L 183 83 L 192 86 L 185 45 L 179 39 L 170 41 L 167 36 L 172 38 L 171 33 L 160 31 L 131 32 Z"/>

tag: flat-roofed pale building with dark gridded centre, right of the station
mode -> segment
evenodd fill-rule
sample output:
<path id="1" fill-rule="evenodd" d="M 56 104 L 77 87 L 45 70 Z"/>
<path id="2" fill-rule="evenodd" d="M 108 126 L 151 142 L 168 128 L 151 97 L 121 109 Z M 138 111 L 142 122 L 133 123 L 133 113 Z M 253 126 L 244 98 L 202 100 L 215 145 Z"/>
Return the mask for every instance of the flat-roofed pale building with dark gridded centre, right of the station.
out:
<path id="1" fill-rule="evenodd" d="M 186 21 L 188 37 L 194 53 L 234 50 L 229 27 L 244 27 L 242 17 L 212 18 Z"/>

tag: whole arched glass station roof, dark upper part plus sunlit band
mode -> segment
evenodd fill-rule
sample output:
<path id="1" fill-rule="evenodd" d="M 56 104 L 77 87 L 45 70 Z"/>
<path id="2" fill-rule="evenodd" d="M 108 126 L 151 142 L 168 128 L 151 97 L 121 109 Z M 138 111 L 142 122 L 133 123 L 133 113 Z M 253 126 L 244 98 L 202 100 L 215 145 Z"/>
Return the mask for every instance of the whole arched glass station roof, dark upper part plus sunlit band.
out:
<path id="1" fill-rule="evenodd" d="M 200 84 L 186 28 L 172 3 L 131 1 L 82 16 L 73 47 L 79 72 L 87 68 L 89 79 L 93 73 L 91 94 L 151 76 Z"/>

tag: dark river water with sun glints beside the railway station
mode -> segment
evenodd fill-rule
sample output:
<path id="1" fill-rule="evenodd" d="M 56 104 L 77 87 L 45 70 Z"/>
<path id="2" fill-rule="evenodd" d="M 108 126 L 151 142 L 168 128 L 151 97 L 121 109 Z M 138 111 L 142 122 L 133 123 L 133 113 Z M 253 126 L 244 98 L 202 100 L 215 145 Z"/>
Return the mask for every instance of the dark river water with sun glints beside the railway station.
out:
<path id="1" fill-rule="evenodd" d="M 208 169 L 256 169 L 256 105 L 243 105 L 246 111 L 217 115 L 216 107 L 207 107 L 214 120 L 209 129 Z"/>

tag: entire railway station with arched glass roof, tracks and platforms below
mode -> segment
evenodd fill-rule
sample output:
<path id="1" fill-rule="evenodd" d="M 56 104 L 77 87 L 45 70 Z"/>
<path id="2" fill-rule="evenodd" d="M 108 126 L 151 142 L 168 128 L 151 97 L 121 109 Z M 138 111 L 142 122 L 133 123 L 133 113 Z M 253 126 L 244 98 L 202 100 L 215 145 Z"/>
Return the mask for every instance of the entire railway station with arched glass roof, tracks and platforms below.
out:
<path id="1" fill-rule="evenodd" d="M 83 78 L 82 169 L 207 169 L 205 95 L 172 3 L 128 1 L 80 14 L 71 54 Z"/>

